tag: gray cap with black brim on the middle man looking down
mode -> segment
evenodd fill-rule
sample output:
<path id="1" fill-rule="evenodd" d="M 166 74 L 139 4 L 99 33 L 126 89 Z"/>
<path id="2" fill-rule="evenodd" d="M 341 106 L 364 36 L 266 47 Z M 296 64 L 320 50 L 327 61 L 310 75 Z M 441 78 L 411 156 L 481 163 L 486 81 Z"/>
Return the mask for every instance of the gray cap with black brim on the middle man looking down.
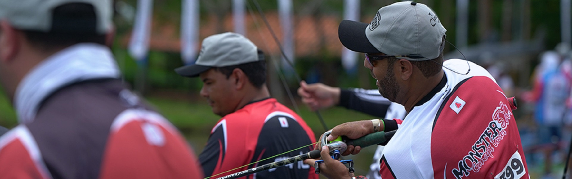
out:
<path id="1" fill-rule="evenodd" d="M 200 73 L 216 67 L 228 67 L 264 60 L 264 55 L 248 38 L 241 34 L 225 32 L 202 40 L 197 61 L 175 69 L 181 76 L 197 77 Z"/>

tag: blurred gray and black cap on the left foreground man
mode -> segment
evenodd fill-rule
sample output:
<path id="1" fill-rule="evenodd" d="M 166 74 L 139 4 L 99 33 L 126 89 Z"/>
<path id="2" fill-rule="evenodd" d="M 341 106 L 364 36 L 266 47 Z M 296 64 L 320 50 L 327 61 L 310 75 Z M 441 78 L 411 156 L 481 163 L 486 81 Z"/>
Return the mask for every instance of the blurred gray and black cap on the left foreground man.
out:
<path id="1" fill-rule="evenodd" d="M 87 3 L 94 7 L 95 27 L 88 25 L 92 31 L 105 34 L 112 28 L 113 3 L 111 0 L 1 0 L 0 20 L 7 20 L 16 29 L 50 32 L 54 29 L 52 11 L 55 7 L 67 3 Z M 59 22 L 64 27 L 57 29 L 75 29 L 76 26 L 85 24 L 81 17 L 69 17 Z M 78 28 L 78 30 L 84 29 Z"/>

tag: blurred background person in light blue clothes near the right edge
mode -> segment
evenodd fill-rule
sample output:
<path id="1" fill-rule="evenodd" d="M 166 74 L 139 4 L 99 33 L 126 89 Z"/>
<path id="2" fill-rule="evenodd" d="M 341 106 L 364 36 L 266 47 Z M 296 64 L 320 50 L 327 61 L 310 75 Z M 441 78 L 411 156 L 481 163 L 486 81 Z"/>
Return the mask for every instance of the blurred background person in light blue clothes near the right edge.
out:
<path id="1" fill-rule="evenodd" d="M 562 59 L 563 56 L 558 52 L 545 52 L 541 56 L 541 64 L 535 71 L 533 99 L 536 107 L 534 118 L 537 123 L 538 149 L 543 154 L 543 175 L 545 178 L 555 177 L 553 155 L 563 148 L 563 118 L 567 110 L 566 100 L 570 97 L 570 80 L 562 68 Z"/>

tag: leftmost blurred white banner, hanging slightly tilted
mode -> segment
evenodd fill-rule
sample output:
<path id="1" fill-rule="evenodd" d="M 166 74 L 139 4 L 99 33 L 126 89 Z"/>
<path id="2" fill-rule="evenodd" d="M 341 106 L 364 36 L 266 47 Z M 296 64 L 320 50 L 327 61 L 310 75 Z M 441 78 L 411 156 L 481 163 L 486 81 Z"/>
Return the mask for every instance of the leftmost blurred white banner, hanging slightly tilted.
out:
<path id="1" fill-rule="evenodd" d="M 137 13 L 131 40 L 129 41 L 129 54 L 135 60 L 143 60 L 149 51 L 149 34 L 151 32 L 151 17 L 153 14 L 153 0 L 138 0 Z"/>

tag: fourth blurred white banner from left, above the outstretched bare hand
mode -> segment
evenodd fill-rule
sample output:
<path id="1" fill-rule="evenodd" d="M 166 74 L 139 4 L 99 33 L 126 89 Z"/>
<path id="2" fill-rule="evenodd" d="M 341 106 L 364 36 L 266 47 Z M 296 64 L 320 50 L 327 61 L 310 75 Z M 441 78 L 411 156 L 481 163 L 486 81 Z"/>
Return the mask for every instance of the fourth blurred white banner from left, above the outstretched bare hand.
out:
<path id="1" fill-rule="evenodd" d="M 288 57 L 288 60 L 294 64 L 295 52 L 294 52 L 294 29 L 292 24 L 292 0 L 278 0 L 278 15 L 280 18 L 280 25 L 282 26 L 282 34 L 284 39 L 282 40 L 282 47 L 284 48 L 284 54 Z M 284 57 L 282 59 L 283 69 L 292 69 Z"/>

